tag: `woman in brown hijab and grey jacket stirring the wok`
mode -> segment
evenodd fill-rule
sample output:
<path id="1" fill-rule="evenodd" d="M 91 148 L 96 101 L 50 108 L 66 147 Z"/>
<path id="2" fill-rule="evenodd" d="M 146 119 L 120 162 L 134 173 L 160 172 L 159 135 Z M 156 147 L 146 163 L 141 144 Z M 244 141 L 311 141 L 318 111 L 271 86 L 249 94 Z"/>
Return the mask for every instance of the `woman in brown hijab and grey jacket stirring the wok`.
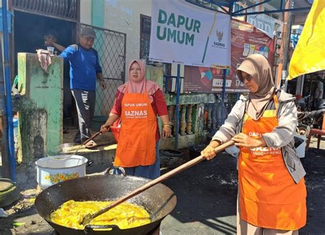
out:
<path id="1" fill-rule="evenodd" d="M 274 88 L 263 55 L 248 56 L 236 72 L 250 93 L 237 101 L 202 155 L 214 158 L 213 149 L 230 138 L 240 149 L 237 234 L 298 234 L 306 224 L 306 186 L 293 147 L 294 99 Z"/>

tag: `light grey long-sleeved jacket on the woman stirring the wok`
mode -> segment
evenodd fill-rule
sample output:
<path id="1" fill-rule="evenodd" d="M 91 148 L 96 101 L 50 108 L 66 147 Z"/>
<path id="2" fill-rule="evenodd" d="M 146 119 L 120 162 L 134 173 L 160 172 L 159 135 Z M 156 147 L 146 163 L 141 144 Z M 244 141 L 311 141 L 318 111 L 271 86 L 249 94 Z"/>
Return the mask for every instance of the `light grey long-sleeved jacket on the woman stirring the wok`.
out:
<path id="1" fill-rule="evenodd" d="M 306 175 L 306 172 L 294 147 L 293 136 L 298 124 L 297 109 L 294 103 L 295 98 L 280 90 L 277 92 L 277 97 L 278 126 L 274 127 L 272 132 L 263 134 L 263 138 L 267 147 L 281 148 L 285 165 L 293 180 L 298 184 L 302 177 Z M 236 134 L 239 134 L 243 125 L 243 116 L 247 105 L 248 99 L 241 96 L 232 108 L 224 125 L 220 127 L 212 139 L 225 143 Z"/>

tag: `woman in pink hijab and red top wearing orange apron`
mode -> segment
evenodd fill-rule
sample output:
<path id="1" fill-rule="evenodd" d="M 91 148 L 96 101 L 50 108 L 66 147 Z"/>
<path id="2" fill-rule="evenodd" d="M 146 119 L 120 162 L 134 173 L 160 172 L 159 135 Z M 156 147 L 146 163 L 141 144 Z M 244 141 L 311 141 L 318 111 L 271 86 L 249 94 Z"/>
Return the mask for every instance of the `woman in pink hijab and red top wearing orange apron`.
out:
<path id="1" fill-rule="evenodd" d="M 157 114 L 163 121 L 163 136 L 171 134 L 165 97 L 155 82 L 145 78 L 145 67 L 140 60 L 132 60 L 128 71 L 130 79 L 119 86 L 101 132 L 107 132 L 121 118 L 114 165 L 122 166 L 128 175 L 155 179 L 160 176 Z"/>

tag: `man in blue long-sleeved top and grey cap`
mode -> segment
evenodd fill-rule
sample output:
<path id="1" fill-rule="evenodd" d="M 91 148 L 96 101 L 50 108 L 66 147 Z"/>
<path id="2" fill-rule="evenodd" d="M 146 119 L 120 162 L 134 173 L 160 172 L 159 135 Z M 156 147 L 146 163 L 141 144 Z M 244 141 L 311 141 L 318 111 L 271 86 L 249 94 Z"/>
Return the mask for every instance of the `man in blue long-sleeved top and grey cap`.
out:
<path id="1" fill-rule="evenodd" d="M 70 89 L 77 106 L 79 131 L 75 135 L 75 143 L 84 143 L 91 137 L 91 120 L 95 110 L 96 79 L 103 90 L 106 89 L 97 51 L 93 49 L 95 30 L 84 27 L 79 45 L 70 45 L 59 55 L 64 62 L 70 64 Z M 91 141 L 87 147 L 94 147 Z"/>

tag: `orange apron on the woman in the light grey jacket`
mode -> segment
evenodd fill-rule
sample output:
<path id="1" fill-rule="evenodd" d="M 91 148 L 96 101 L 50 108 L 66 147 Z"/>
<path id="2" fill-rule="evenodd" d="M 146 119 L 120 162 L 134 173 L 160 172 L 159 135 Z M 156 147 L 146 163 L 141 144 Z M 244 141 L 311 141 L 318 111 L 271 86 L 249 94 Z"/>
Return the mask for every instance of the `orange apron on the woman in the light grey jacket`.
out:
<path id="1" fill-rule="evenodd" d="M 274 96 L 276 110 L 278 99 Z M 242 133 L 259 138 L 278 126 L 276 110 L 265 110 L 257 121 L 245 114 Z M 306 224 L 306 186 L 289 174 L 280 148 L 241 147 L 239 156 L 240 217 L 256 226 L 298 230 Z"/>

